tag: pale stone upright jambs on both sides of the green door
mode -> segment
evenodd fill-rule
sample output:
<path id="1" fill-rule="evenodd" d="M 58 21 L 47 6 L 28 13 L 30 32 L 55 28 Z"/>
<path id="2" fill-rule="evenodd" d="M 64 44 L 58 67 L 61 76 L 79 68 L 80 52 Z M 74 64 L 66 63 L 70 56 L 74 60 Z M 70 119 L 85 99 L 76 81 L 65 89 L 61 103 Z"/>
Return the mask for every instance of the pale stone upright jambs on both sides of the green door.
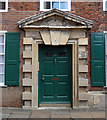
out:
<path id="1" fill-rule="evenodd" d="M 78 40 L 73 40 L 72 45 L 72 108 L 79 105 L 79 83 L 78 83 Z M 32 42 L 32 107 L 38 108 L 38 46 L 39 44 L 33 40 Z"/>

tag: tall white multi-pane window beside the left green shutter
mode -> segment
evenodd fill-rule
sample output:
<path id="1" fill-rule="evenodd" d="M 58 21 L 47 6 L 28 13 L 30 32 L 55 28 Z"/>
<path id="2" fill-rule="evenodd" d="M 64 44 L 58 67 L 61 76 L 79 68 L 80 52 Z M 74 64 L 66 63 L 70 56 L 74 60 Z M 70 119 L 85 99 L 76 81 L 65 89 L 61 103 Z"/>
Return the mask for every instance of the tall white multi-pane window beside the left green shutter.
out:
<path id="1" fill-rule="evenodd" d="M 5 32 L 6 31 L 0 31 L 0 86 L 4 85 Z"/>

